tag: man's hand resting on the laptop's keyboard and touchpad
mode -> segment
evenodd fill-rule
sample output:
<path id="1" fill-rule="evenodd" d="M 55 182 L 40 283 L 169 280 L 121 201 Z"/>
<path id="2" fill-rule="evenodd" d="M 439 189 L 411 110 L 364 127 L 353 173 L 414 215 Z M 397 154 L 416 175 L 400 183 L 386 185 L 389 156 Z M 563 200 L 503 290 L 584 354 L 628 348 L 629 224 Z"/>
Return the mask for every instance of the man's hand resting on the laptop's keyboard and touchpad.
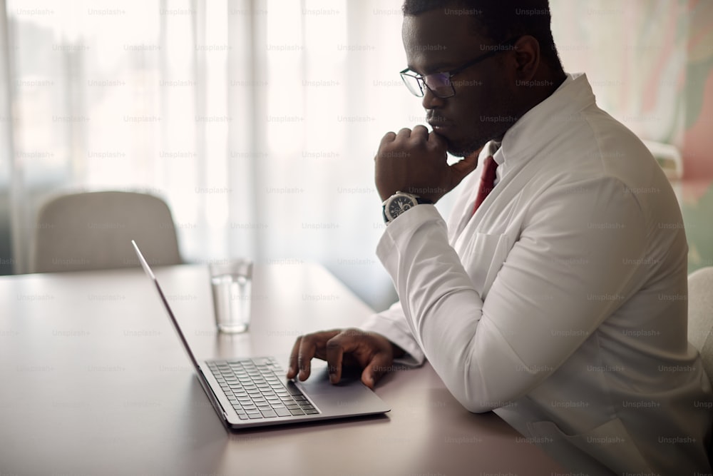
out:
<path id="1" fill-rule="evenodd" d="M 327 360 L 329 381 L 338 383 L 342 378 L 342 366 L 358 366 L 363 369 L 361 382 L 373 389 L 376 380 L 391 369 L 394 355 L 404 353 L 383 335 L 364 330 L 334 329 L 301 335 L 292 347 L 287 378 L 307 380 L 312 358 Z"/>

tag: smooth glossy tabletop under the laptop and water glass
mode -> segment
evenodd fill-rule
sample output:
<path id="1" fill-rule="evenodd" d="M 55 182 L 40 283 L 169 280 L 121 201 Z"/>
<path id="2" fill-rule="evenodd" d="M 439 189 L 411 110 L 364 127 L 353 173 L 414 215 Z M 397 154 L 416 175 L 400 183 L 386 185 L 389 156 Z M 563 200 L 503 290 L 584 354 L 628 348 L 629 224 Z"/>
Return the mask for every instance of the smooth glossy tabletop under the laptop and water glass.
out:
<path id="1" fill-rule="evenodd" d="M 157 268 L 198 358 L 275 355 L 371 313 L 319 265 L 257 265 L 250 332 L 215 330 L 207 267 Z M 0 278 L 0 475 L 551 475 L 429 364 L 386 375 L 378 417 L 230 432 L 139 268 Z"/>

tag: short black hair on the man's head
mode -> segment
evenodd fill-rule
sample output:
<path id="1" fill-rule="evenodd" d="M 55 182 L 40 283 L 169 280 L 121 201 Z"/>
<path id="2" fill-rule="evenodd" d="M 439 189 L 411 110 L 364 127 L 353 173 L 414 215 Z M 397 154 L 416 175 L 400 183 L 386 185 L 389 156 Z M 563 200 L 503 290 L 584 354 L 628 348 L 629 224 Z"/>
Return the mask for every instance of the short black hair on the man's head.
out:
<path id="1" fill-rule="evenodd" d="M 495 44 L 517 36 L 533 36 L 540 44 L 545 62 L 562 69 L 550 29 L 548 0 L 404 0 L 402 7 L 404 15 L 411 16 L 436 9 L 471 16 L 475 31 Z"/>

